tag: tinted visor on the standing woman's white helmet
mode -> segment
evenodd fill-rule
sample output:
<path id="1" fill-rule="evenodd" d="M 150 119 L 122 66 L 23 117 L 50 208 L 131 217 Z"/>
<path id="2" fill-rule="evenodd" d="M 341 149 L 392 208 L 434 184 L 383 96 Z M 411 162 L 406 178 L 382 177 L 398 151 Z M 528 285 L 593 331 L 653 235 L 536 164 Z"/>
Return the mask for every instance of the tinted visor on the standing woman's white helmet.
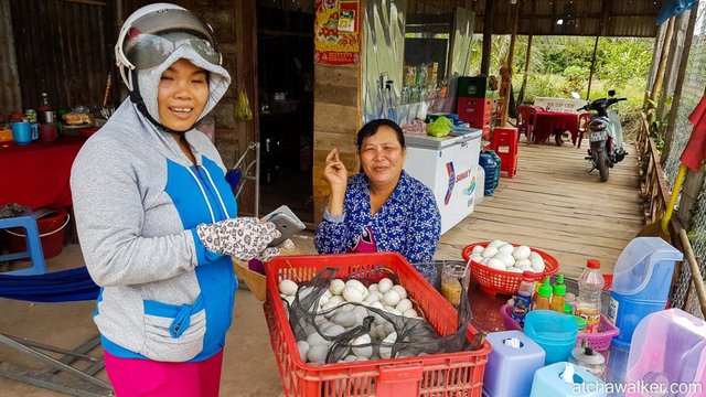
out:
<path id="1" fill-rule="evenodd" d="M 182 45 L 221 65 L 211 28 L 186 10 L 163 10 L 139 18 L 126 32 L 122 52 L 136 68 L 146 69 L 160 65 Z"/>

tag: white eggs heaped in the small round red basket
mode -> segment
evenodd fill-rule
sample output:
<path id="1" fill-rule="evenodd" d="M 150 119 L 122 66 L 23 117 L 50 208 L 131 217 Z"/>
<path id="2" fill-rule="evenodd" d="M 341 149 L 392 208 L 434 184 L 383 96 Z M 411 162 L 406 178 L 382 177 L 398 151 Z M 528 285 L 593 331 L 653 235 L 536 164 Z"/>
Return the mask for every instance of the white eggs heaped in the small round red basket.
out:
<path id="1" fill-rule="evenodd" d="M 492 240 L 485 248 L 475 246 L 471 250 L 471 260 L 488 266 L 491 269 L 522 273 L 532 271 L 544 272 L 544 259 L 530 247 L 521 245 L 514 247 L 503 240 Z"/>

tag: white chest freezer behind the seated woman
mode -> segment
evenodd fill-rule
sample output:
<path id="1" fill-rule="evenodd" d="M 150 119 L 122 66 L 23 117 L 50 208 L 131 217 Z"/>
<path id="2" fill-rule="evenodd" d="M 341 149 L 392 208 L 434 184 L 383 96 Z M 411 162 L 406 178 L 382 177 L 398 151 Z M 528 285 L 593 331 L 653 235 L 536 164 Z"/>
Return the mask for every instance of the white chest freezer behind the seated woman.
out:
<path id="1" fill-rule="evenodd" d="M 431 189 L 441 213 L 441 234 L 473 212 L 479 129 L 459 137 L 405 136 L 405 171 Z"/>

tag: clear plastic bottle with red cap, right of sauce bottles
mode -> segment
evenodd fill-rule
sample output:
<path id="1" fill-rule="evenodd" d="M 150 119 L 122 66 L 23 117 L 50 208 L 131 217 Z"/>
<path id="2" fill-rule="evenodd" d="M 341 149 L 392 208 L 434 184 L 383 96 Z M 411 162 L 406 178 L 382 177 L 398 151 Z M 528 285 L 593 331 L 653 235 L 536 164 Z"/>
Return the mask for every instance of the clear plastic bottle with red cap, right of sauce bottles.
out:
<path id="1" fill-rule="evenodd" d="M 576 314 L 586 319 L 586 332 L 599 332 L 600 325 L 600 294 L 606 286 L 603 275 L 600 273 L 600 261 L 588 259 L 586 269 L 578 279 L 578 301 Z"/>

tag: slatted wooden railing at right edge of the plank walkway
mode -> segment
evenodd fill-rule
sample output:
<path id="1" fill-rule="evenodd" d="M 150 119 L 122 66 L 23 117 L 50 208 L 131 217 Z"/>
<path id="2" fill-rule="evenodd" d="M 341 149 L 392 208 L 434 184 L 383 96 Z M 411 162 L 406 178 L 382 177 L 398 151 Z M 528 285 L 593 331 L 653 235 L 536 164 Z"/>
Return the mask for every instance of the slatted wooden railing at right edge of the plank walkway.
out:
<path id="1" fill-rule="evenodd" d="M 650 138 L 650 127 L 646 116 L 642 114 L 640 131 L 638 133 L 638 153 L 640 153 L 642 171 L 642 198 L 645 203 L 645 221 L 655 222 L 664 216 L 666 205 L 670 201 L 670 190 L 666 186 L 662 164 L 660 163 L 660 152 Z M 674 227 L 672 225 L 672 227 Z M 674 232 L 674 228 L 673 230 Z"/>

